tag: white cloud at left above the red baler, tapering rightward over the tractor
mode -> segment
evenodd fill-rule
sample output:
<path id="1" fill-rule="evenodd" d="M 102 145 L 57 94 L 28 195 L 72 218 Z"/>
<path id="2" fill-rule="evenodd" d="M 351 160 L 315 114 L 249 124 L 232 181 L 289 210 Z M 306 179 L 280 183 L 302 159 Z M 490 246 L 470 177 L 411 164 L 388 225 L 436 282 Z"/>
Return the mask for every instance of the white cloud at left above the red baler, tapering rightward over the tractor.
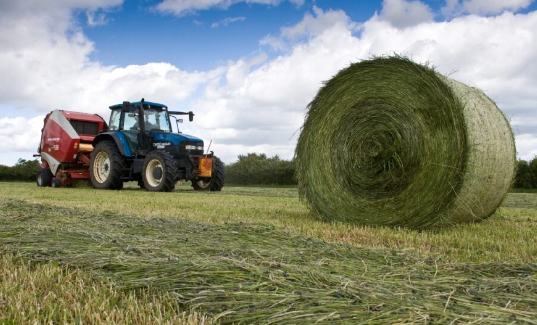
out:
<path id="1" fill-rule="evenodd" d="M 218 69 L 186 73 L 164 62 L 102 66 L 89 59 L 95 45 L 73 23 L 71 5 L 99 10 L 99 6 L 109 8 L 120 1 L 60 3 L 54 2 L 46 10 L 40 8 L 40 1 L 35 6 L 32 1 L 0 4 L 4 9 L 0 10 L 0 74 L 10 76 L 0 88 L 0 106 L 8 116 L 2 118 L 0 129 L 9 130 L 0 137 L 0 164 L 16 162 L 10 153 L 28 150 L 24 158 L 35 153 L 42 128 L 42 118 L 33 122 L 35 114 L 63 109 L 97 113 L 107 119 L 111 104 L 142 97 L 177 103 L 220 74 Z M 6 147 L 12 143 L 8 138 L 19 144 Z"/>

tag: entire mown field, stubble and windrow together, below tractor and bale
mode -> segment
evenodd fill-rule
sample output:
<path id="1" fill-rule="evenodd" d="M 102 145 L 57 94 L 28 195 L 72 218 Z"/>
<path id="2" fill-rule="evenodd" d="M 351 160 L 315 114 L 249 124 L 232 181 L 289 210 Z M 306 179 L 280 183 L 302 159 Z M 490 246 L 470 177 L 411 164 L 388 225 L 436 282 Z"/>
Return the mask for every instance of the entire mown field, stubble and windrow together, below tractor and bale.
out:
<path id="1" fill-rule="evenodd" d="M 0 183 L 0 324 L 537 324 L 537 194 L 436 231 L 323 223 L 293 187 Z"/>

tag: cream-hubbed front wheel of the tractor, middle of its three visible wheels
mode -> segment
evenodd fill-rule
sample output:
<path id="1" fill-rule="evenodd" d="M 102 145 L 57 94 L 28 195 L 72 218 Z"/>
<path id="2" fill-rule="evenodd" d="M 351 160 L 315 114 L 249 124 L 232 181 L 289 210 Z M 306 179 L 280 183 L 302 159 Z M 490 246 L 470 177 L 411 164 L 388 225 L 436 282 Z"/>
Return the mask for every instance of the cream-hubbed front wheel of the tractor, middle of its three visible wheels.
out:
<path id="1" fill-rule="evenodd" d="M 166 151 L 156 150 L 143 163 L 142 179 L 146 190 L 171 192 L 177 181 L 177 164 Z"/>

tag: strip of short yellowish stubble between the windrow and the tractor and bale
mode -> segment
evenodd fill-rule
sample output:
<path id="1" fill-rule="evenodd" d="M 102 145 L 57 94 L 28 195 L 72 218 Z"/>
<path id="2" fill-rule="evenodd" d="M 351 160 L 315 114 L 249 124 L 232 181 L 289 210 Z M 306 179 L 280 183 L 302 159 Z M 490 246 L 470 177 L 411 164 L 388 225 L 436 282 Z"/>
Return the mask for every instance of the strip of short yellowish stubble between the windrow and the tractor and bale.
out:
<path id="1" fill-rule="evenodd" d="M 422 232 L 321 222 L 299 201 L 295 188 L 285 187 L 224 187 L 222 192 L 209 193 L 195 192 L 185 184 L 175 192 L 151 193 L 135 185 L 121 191 L 100 191 L 0 183 L 0 199 L 112 210 L 150 218 L 270 224 L 328 242 L 413 251 L 453 262 L 537 261 L 537 195 L 533 193 L 509 193 L 503 206 L 481 223 Z"/>

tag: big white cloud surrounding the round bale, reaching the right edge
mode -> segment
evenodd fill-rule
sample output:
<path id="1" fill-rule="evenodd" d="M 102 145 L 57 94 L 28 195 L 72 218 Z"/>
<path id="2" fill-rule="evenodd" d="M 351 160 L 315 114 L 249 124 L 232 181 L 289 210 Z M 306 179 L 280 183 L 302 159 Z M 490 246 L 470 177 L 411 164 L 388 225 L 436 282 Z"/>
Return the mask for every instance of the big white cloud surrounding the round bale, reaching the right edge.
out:
<path id="1" fill-rule="evenodd" d="M 338 23 L 324 24 L 330 21 L 325 17 L 328 13 L 339 15 Z M 316 24 L 324 28 L 311 27 Z M 527 149 L 531 142 L 525 141 L 537 125 L 537 121 L 531 122 L 537 107 L 533 95 L 537 87 L 533 60 L 537 45 L 532 42 L 537 12 L 462 16 L 403 29 L 374 16 L 360 24 L 359 35 L 355 33 L 356 25 L 342 11 L 317 9 L 304 15 L 297 25 L 271 36 L 285 42 L 288 50 L 284 55 L 272 60 L 262 58 L 255 64 L 246 60 L 229 64 L 222 80 L 210 88 L 210 95 L 193 105 L 204 116 L 211 116 L 205 121 L 204 133 L 218 139 L 212 129 L 234 129 L 218 141 L 224 144 L 223 151 L 264 146 L 269 150 L 267 154 L 290 158 L 304 108 L 323 80 L 349 62 L 401 53 L 418 62 L 431 62 L 441 73 L 483 89 L 518 125 L 517 134 L 524 135 L 517 137 L 520 155 L 531 155 Z M 308 36 L 304 40 L 300 35 Z M 284 148 L 288 150 L 278 151 Z"/>

